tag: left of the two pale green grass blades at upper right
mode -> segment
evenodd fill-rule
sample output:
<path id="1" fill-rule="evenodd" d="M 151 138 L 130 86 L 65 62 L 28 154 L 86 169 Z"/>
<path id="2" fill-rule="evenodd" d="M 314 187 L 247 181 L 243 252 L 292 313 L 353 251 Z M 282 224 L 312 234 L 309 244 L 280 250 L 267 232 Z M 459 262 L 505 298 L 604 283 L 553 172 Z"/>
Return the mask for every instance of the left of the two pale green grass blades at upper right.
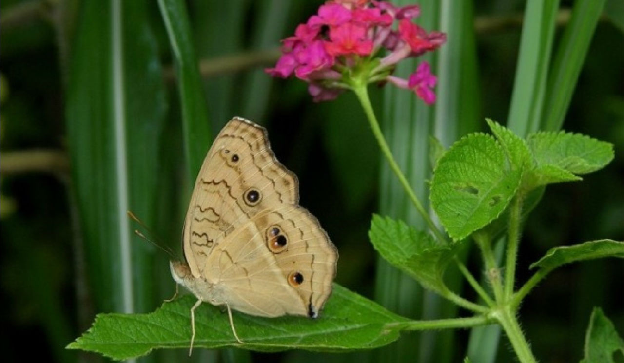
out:
<path id="1" fill-rule="evenodd" d="M 520 137 L 540 127 L 558 0 L 529 0 L 507 126 Z"/>

